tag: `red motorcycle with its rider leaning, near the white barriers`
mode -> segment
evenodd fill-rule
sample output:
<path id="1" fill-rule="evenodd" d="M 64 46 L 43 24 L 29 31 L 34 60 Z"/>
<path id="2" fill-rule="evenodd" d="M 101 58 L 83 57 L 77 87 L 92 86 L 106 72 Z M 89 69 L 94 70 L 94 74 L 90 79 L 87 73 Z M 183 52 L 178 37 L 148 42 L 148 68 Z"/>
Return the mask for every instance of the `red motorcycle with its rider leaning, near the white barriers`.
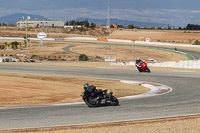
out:
<path id="1" fill-rule="evenodd" d="M 135 65 L 139 72 L 149 72 L 149 73 L 151 72 L 150 69 L 147 67 L 147 63 L 140 59 L 136 60 Z"/>

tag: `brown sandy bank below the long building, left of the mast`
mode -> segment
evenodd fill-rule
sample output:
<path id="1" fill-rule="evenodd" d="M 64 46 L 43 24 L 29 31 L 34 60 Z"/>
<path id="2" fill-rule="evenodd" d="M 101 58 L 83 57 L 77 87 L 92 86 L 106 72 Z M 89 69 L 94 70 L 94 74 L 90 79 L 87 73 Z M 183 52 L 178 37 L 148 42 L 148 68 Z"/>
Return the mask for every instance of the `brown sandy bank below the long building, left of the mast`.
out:
<path id="1" fill-rule="evenodd" d="M 88 29 L 86 31 L 79 31 L 76 29 L 60 29 L 60 28 L 28 28 L 29 37 L 37 37 L 38 32 L 47 33 L 48 38 L 67 38 L 67 37 L 77 37 L 77 36 L 104 36 L 105 29 L 96 28 L 94 30 Z M 1 37 L 25 37 L 26 31 L 25 28 L 17 27 L 0 27 L 0 36 Z"/>

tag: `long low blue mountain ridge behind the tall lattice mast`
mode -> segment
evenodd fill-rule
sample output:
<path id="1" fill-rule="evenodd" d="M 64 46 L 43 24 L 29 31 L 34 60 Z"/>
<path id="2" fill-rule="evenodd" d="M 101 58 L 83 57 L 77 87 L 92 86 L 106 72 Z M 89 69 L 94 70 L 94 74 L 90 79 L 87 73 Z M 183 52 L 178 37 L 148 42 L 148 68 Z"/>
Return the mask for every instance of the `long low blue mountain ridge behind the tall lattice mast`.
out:
<path id="1" fill-rule="evenodd" d="M 107 19 L 90 19 L 90 18 L 78 18 L 76 21 L 84 21 L 88 20 L 90 23 L 95 23 L 95 24 L 101 24 L 101 25 L 107 25 Z M 111 19 L 110 20 L 111 24 L 119 24 L 123 26 L 128 26 L 133 24 L 134 26 L 139 26 L 139 27 L 168 27 L 168 24 L 161 24 L 161 23 L 151 23 L 151 22 L 139 22 L 139 21 L 128 21 L 128 20 L 121 20 L 121 19 Z"/>

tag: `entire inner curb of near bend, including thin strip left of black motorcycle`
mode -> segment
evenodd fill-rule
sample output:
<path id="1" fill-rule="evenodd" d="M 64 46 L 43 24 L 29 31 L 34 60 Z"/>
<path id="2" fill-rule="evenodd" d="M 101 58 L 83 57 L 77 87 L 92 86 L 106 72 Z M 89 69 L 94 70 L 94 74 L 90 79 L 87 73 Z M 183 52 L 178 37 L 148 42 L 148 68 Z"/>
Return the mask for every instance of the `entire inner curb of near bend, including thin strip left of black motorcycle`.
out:
<path id="1" fill-rule="evenodd" d="M 150 88 L 151 91 L 144 93 L 144 94 L 140 94 L 140 95 L 121 97 L 121 98 L 118 98 L 119 100 L 138 99 L 138 98 L 144 98 L 144 97 L 158 96 L 158 95 L 163 95 L 163 94 L 166 94 L 166 93 L 169 93 L 169 92 L 172 91 L 172 88 L 170 88 L 166 85 L 157 84 L 157 83 L 142 82 L 142 81 L 120 81 L 120 82 L 127 83 L 127 84 L 141 85 L 141 86 Z M 75 103 L 63 103 L 63 104 L 51 104 L 51 105 L 39 105 L 39 106 L 25 106 L 25 107 L 23 107 L 23 106 L 0 107 L 0 109 L 46 107 L 46 106 L 67 106 L 67 105 L 80 105 L 80 104 L 85 104 L 85 103 L 84 102 L 75 102 Z"/>

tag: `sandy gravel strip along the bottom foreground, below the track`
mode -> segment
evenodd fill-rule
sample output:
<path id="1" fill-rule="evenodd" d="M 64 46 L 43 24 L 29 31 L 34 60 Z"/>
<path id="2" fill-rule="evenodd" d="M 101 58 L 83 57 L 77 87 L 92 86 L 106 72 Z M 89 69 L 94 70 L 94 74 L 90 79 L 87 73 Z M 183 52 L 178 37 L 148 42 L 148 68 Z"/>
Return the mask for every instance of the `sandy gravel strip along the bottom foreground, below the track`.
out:
<path id="1" fill-rule="evenodd" d="M 133 121 L 124 123 L 97 124 L 74 127 L 13 130 L 12 132 L 47 132 L 47 133 L 199 133 L 200 116 L 178 117 L 169 119 Z"/>

